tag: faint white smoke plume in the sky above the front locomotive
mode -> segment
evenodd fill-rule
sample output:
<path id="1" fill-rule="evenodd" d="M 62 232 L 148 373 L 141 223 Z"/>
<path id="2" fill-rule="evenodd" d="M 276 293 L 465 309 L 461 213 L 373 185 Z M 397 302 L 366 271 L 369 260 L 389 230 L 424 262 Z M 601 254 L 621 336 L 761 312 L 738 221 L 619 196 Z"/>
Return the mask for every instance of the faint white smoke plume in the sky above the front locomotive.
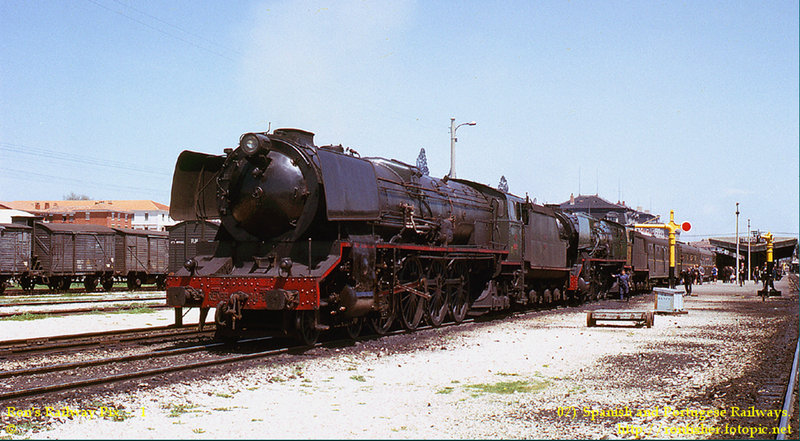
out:
<path id="1" fill-rule="evenodd" d="M 413 2 L 362 0 L 256 6 L 243 25 L 244 96 L 294 124 L 320 123 L 323 115 L 335 124 L 335 113 L 357 96 L 353 89 L 374 96 L 376 69 L 392 62 L 393 39 L 413 10 Z"/>

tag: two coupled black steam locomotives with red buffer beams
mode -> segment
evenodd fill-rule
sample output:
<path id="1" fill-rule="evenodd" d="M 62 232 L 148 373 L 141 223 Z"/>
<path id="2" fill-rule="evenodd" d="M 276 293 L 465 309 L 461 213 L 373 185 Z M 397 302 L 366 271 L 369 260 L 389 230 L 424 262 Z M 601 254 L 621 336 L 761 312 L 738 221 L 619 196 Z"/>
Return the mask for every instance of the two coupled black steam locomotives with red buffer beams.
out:
<path id="1" fill-rule="evenodd" d="M 620 224 L 317 147 L 313 136 L 248 133 L 221 156 L 180 155 L 170 215 L 221 225 L 168 277 L 168 304 L 200 307 L 203 318 L 215 308 L 220 337 L 278 332 L 311 344 L 320 331 L 356 336 L 365 323 L 385 334 L 396 323 L 413 330 L 600 298 L 632 268 L 639 236 Z M 632 268 L 639 286 L 655 262 Z"/>

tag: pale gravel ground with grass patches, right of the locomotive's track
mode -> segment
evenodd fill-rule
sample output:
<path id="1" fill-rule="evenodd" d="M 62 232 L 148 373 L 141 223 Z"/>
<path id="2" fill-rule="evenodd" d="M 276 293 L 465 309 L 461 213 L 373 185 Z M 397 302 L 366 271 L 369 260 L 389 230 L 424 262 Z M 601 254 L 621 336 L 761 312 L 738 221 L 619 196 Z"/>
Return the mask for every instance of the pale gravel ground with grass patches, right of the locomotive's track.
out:
<path id="1" fill-rule="evenodd" d="M 54 439 L 749 438 L 777 425 L 766 412 L 797 342 L 797 293 L 776 287 L 762 301 L 752 283 L 695 286 L 688 314 L 652 328 L 586 327 L 588 310 L 653 309 L 648 294 L 4 402 L 2 425 Z"/>

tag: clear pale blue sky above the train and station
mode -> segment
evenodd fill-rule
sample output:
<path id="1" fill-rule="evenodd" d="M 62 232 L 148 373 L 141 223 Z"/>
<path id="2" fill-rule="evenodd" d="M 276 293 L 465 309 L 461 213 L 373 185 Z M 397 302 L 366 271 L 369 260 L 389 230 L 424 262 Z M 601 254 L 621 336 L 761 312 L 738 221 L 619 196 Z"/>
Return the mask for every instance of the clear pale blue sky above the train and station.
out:
<path id="1" fill-rule="evenodd" d="M 169 203 L 267 124 L 697 239 L 798 232 L 796 1 L 0 0 L 0 200 Z M 579 179 L 580 177 L 580 179 Z"/>

